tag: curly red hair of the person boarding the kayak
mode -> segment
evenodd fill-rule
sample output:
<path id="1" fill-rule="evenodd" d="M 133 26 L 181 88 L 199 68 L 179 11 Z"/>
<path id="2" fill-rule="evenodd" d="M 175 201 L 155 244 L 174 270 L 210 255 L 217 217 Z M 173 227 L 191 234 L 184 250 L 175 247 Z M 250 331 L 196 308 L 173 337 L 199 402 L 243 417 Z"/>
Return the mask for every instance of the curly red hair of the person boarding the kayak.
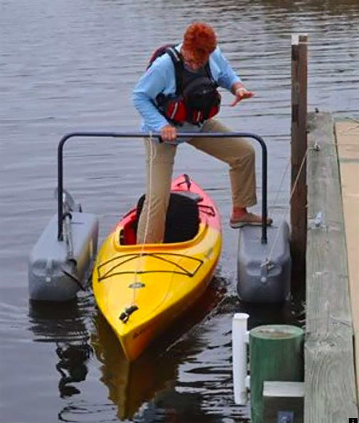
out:
<path id="1" fill-rule="evenodd" d="M 197 59 L 206 58 L 217 46 L 217 38 L 211 25 L 192 22 L 184 32 L 182 47 Z"/>

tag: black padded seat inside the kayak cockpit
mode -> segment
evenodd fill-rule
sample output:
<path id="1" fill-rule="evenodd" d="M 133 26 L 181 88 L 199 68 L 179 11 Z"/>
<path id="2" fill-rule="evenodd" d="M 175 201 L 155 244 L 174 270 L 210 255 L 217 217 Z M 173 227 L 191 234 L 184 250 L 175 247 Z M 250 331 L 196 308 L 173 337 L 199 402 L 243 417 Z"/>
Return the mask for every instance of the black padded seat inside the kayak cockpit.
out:
<path id="1" fill-rule="evenodd" d="M 202 197 L 195 192 L 175 191 L 170 193 L 164 243 L 184 242 L 194 238 L 199 229 L 200 217 L 197 203 Z M 145 194 L 137 202 L 134 230 L 137 231 L 138 220 L 145 202 Z"/>

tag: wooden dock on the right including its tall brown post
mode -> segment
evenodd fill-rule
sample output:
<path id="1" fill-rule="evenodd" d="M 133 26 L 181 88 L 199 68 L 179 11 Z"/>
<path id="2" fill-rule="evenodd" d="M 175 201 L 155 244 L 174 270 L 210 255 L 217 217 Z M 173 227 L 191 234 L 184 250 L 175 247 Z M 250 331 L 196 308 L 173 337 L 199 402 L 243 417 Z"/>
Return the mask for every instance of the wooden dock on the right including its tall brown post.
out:
<path id="1" fill-rule="evenodd" d="M 307 46 L 307 34 L 293 34 L 291 288 L 306 293 L 304 385 L 297 382 L 291 392 L 282 379 L 264 381 L 264 416 L 280 421 L 285 407 L 293 421 L 354 422 L 359 403 L 359 122 L 334 124 L 330 113 L 307 113 Z M 282 415 L 285 421 L 288 416 Z"/>

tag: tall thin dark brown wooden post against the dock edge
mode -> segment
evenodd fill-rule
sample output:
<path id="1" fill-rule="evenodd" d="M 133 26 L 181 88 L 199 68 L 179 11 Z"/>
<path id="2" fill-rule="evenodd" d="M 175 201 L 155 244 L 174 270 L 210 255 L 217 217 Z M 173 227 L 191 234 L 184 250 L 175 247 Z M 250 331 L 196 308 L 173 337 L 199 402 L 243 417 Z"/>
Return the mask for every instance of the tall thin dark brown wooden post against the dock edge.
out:
<path id="1" fill-rule="evenodd" d="M 305 284 L 307 243 L 307 34 L 292 36 L 292 123 L 290 200 L 292 289 Z M 300 173 L 300 174 L 299 174 Z M 294 187 L 296 185 L 296 187 Z"/>

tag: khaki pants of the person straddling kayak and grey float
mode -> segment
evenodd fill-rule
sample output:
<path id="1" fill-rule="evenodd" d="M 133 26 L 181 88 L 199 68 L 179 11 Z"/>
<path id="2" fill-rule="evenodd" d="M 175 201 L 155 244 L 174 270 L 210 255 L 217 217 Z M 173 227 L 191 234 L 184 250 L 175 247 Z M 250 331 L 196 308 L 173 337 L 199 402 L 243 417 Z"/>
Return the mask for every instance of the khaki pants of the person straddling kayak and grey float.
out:
<path id="1" fill-rule="evenodd" d="M 203 125 L 203 132 L 231 131 L 220 122 L 211 119 Z M 218 139 L 209 136 L 208 138 L 192 138 L 187 143 L 229 165 L 233 207 L 250 207 L 257 203 L 255 151 L 250 143 L 243 138 Z M 145 148 L 147 187 L 146 199 L 137 229 L 137 243 L 139 244 L 163 241 L 177 146 L 168 143 L 148 142 L 148 139 L 145 139 Z M 150 198 L 151 204 L 149 204 L 148 198 Z M 148 209 L 150 210 L 149 215 Z"/>

